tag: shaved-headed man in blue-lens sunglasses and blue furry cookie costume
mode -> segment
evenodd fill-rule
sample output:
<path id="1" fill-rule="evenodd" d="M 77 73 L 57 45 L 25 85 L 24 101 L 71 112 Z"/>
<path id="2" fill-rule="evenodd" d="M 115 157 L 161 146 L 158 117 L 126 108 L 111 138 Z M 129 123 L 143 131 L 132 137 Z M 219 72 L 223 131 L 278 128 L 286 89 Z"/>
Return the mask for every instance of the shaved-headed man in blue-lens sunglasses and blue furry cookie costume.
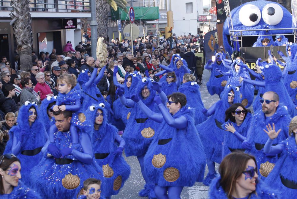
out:
<path id="1" fill-rule="evenodd" d="M 278 160 L 278 157 L 275 154 L 263 152 L 264 144 L 268 139 L 268 136 L 263 132 L 263 129 L 265 129 L 268 124 L 272 123 L 282 129 L 277 139 L 273 140 L 273 144 L 276 145 L 287 139 L 288 125 L 291 119 L 287 109 L 279 103 L 279 96 L 277 93 L 273 91 L 264 93 L 260 102 L 262 103 L 262 111 L 259 110 L 255 113 L 250 123 L 249 130 L 247 131 L 247 140 L 242 142 L 242 147 L 247 149 L 246 152 L 255 156 L 259 170 L 260 167 L 264 168 L 269 162 L 276 163 Z M 261 172 L 260 174 L 264 177 L 267 176 Z"/>

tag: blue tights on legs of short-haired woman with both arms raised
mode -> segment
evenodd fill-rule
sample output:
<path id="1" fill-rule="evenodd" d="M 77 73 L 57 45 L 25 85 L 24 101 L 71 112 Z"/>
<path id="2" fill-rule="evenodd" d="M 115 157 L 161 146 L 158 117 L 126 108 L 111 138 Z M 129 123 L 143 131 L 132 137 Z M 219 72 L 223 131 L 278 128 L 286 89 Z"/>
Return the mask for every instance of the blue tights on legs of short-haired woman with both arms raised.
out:
<path id="1" fill-rule="evenodd" d="M 183 189 L 184 187 L 181 186 L 160 187 L 155 185 L 155 194 L 158 199 L 181 199 L 180 195 Z"/>

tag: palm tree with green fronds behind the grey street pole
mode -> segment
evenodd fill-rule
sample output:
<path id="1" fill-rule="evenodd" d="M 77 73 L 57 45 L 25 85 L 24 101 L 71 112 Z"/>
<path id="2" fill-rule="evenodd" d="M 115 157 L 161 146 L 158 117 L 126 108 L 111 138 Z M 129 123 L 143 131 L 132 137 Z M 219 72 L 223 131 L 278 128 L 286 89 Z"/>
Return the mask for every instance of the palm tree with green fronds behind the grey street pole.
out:
<path id="1" fill-rule="evenodd" d="M 113 10 L 118 10 L 122 8 L 127 10 L 127 1 L 126 0 L 96 0 L 96 20 L 98 23 L 97 26 L 97 35 L 99 37 L 107 38 L 108 33 L 108 6 L 112 7 Z"/>

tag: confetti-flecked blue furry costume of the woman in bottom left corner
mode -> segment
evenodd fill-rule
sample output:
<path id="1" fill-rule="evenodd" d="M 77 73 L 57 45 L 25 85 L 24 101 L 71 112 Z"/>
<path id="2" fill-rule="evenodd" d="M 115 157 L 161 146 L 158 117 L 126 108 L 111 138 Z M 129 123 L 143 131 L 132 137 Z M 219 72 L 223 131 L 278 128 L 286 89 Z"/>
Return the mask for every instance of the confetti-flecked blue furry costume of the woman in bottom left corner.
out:
<path id="1" fill-rule="evenodd" d="M 26 185 L 22 181 L 19 181 L 17 187 L 13 187 L 13 190 L 10 194 L 3 194 L 3 196 L 9 199 L 41 199 L 41 196 L 36 191 L 26 187 Z M 2 194 L 0 194 L 0 198 L 2 198 Z"/>

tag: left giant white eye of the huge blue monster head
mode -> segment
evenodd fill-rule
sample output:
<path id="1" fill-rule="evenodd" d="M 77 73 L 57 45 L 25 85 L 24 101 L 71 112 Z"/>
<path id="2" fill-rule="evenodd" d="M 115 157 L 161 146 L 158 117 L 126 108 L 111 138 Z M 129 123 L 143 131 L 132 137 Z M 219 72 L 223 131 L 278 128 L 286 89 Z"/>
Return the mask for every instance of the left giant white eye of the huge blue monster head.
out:
<path id="1" fill-rule="evenodd" d="M 260 9 L 252 4 L 247 4 L 239 10 L 239 21 L 248 27 L 257 25 L 261 20 Z"/>

